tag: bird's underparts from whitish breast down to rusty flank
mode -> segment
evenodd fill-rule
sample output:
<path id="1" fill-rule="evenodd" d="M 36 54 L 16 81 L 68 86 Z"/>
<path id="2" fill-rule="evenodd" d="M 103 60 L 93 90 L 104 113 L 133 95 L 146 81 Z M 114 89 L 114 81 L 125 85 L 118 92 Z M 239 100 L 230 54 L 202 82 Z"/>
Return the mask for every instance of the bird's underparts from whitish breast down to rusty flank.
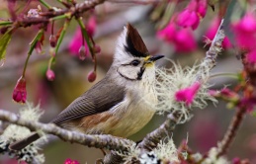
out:
<path id="1" fill-rule="evenodd" d="M 128 137 L 152 119 L 156 100 L 155 94 L 147 89 L 135 94 L 128 93 L 124 101 L 111 110 L 82 119 L 79 129 L 85 133 Z"/>

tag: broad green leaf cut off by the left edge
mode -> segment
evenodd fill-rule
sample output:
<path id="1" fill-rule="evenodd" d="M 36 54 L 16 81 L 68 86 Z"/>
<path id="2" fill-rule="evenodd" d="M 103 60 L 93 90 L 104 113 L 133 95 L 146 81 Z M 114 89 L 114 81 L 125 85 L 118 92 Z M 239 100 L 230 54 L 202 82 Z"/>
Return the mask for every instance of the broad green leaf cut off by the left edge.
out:
<path id="1" fill-rule="evenodd" d="M 0 39 L 0 60 L 5 59 L 7 45 L 11 41 L 12 30 L 9 30 Z"/>

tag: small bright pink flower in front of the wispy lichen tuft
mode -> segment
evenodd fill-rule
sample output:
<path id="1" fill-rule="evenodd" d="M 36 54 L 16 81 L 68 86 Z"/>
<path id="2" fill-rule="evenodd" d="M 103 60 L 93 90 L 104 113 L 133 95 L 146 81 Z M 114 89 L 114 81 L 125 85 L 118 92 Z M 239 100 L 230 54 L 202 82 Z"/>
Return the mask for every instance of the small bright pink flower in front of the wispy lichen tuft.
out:
<path id="1" fill-rule="evenodd" d="M 185 102 L 187 106 L 193 103 L 193 100 L 201 87 L 200 82 L 195 82 L 190 87 L 181 89 L 175 93 L 175 99 L 177 102 Z"/>

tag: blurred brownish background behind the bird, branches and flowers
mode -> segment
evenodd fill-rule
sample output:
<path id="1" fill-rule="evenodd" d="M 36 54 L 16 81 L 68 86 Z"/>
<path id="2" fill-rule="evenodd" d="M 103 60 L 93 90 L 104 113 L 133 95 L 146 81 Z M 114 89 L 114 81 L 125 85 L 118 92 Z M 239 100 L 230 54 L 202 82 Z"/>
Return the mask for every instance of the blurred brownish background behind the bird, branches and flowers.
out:
<path id="1" fill-rule="evenodd" d="M 0 18 L 9 18 L 7 1 L 1 0 L 0 2 Z M 45 71 L 50 57 L 50 46 L 47 40 L 50 35 L 50 28 L 48 28 L 44 36 L 45 41 L 43 41 L 43 54 L 38 54 L 36 51 L 33 52 L 26 72 L 28 101 L 33 102 L 35 105 L 41 104 L 44 112 L 41 122 L 48 123 L 51 121 L 75 98 L 105 76 L 113 60 L 117 38 L 127 23 L 137 29 L 152 54 L 164 54 L 167 58 L 173 59 L 183 66 L 191 66 L 205 57 L 209 47 L 205 46 L 205 36 L 213 27 L 214 17 L 220 13 L 218 4 L 216 4 L 214 11 L 211 7 L 208 7 L 206 18 L 201 20 L 199 28 L 191 31 L 192 39 L 196 42 L 195 46 L 183 51 L 179 50 L 173 42 L 164 41 L 157 37 L 159 30 L 156 27 L 159 25 L 160 18 L 159 20 L 152 18 L 152 13 L 156 9 L 155 4 L 145 5 L 144 3 L 126 2 L 128 1 L 106 2 L 97 6 L 95 10 L 87 12 L 84 16 L 85 22 L 92 15 L 95 17 L 96 26 L 93 38 L 96 44 L 101 47 L 101 52 L 97 54 L 97 79 L 93 83 L 89 83 L 87 80 L 87 74 L 93 70 L 91 56 L 88 55 L 82 61 L 69 48 L 70 41 L 74 40 L 75 33 L 79 30 L 75 21 L 70 23 L 66 36 L 60 45 L 55 64 L 52 65 L 55 79 L 54 81 L 46 79 Z M 52 6 L 62 7 L 57 2 L 48 1 L 48 3 Z M 175 10 L 179 11 L 186 7 L 187 4 L 187 1 L 179 3 Z M 17 8 L 24 8 L 25 5 L 26 1 L 17 2 Z M 27 10 L 37 8 L 38 5 L 37 1 L 33 1 Z M 43 10 L 45 9 L 43 8 Z M 57 33 L 62 25 L 62 20 L 56 21 L 54 32 Z M 12 93 L 17 80 L 22 74 L 29 44 L 37 32 L 37 26 L 26 29 L 20 28 L 12 37 L 7 48 L 5 63 L 0 68 L 0 109 L 18 113 L 23 106 L 12 100 Z M 186 43 L 186 41 L 191 42 L 192 40 L 185 37 L 184 41 Z M 180 44 L 183 44 L 183 42 L 180 42 Z M 157 64 L 158 66 L 171 67 L 171 63 L 167 60 L 159 61 Z M 237 73 L 241 69 L 241 61 L 235 56 L 234 49 L 231 46 L 227 46 L 219 55 L 213 74 L 222 72 Z M 236 84 L 235 80 L 229 77 L 216 77 L 211 79 L 210 83 L 213 89 L 219 89 L 223 86 L 232 87 Z M 223 102 L 218 102 L 216 106 L 210 103 L 206 109 L 194 110 L 193 113 L 194 117 L 189 123 L 180 124 L 176 127 L 173 133 L 174 142 L 178 146 L 183 139 L 188 138 L 188 145 L 195 152 L 204 153 L 215 146 L 217 141 L 222 138 L 234 114 L 234 110 L 227 110 Z M 165 116 L 155 116 L 150 123 L 131 136 L 130 139 L 141 140 L 146 133 L 158 127 L 164 120 Z M 229 159 L 234 157 L 249 158 L 252 163 L 256 163 L 255 123 L 256 119 L 247 115 L 227 154 Z M 42 150 L 45 155 L 45 163 L 63 163 L 66 158 L 71 158 L 80 163 L 91 164 L 96 159 L 103 157 L 99 149 L 71 144 L 54 137 L 50 138 L 49 143 L 44 145 Z M 15 161 L 12 162 L 16 163 Z M 1 155 L 0 163 L 11 163 L 11 160 L 8 156 Z"/>

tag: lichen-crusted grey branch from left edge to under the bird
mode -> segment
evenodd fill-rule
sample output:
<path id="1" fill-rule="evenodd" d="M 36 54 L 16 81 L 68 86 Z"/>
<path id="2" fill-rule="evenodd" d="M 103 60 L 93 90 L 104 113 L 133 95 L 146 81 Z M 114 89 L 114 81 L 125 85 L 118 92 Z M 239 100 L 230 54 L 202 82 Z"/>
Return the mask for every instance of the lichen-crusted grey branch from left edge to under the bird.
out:
<path id="1" fill-rule="evenodd" d="M 77 131 L 70 131 L 61 128 L 53 123 L 30 122 L 27 120 L 23 120 L 17 115 L 7 112 L 5 110 L 0 110 L 0 120 L 3 122 L 26 126 L 32 131 L 42 130 L 45 133 L 56 135 L 65 141 L 79 143 L 82 145 L 86 145 L 88 147 L 96 147 L 102 149 L 106 148 L 109 150 L 118 150 L 126 152 L 128 151 L 128 147 L 134 144 L 134 142 L 131 140 L 115 137 L 113 135 L 83 134 Z"/>

